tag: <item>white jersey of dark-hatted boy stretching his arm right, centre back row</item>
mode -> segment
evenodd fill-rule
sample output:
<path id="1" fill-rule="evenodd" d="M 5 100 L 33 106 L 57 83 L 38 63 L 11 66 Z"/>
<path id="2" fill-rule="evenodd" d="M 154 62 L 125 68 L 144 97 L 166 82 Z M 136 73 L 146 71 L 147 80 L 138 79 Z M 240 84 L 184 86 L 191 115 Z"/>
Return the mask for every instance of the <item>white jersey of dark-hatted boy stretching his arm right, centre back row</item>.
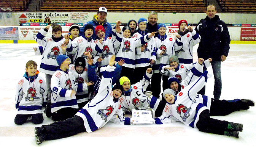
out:
<path id="1" fill-rule="evenodd" d="M 116 38 L 113 40 L 115 53 L 116 53 L 116 61 L 120 61 L 120 59 L 124 59 L 125 64 L 122 65 L 128 68 L 135 68 L 135 56 L 136 56 L 136 47 L 140 47 L 143 44 L 146 44 L 149 40 L 147 39 L 148 35 L 142 36 L 139 39 L 135 38 L 125 38 L 123 37 L 122 31 L 121 34 L 116 33 Z"/>

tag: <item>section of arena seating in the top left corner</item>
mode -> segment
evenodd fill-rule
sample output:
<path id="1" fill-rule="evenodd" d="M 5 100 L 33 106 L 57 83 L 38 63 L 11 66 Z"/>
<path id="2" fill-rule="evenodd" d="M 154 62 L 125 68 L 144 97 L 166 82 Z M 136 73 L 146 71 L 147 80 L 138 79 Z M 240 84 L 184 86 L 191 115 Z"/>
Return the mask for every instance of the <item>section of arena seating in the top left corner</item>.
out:
<path id="1" fill-rule="evenodd" d="M 1 0 L 0 7 L 13 8 L 14 11 L 25 11 L 31 0 Z"/>

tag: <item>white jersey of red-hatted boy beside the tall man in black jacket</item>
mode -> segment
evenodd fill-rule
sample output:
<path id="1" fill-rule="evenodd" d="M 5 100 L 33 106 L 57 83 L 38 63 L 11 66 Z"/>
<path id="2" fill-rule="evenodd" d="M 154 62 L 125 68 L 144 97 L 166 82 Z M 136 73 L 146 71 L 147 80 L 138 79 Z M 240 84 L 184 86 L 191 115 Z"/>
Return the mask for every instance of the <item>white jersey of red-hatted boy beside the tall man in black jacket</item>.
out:
<path id="1" fill-rule="evenodd" d="M 189 64 L 193 63 L 193 47 L 201 41 L 200 35 L 193 30 L 176 38 L 177 41 L 182 42 L 179 48 L 175 48 L 175 56 L 178 56 L 180 63 Z"/>

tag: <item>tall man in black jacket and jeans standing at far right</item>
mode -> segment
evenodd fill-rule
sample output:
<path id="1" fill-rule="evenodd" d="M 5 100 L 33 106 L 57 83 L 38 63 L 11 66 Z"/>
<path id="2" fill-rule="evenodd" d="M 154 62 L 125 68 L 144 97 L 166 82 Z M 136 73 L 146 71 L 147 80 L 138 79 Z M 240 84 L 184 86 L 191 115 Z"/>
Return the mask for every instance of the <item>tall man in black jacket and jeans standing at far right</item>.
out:
<path id="1" fill-rule="evenodd" d="M 230 36 L 225 22 L 216 15 L 214 5 L 207 6 L 207 17 L 201 19 L 195 30 L 201 36 L 201 42 L 197 48 L 198 58 L 211 58 L 211 66 L 215 79 L 213 95 L 215 99 L 221 96 L 221 62 L 225 61 L 229 53 Z M 206 69 L 205 69 L 206 70 Z M 204 95 L 205 87 L 199 91 Z"/>

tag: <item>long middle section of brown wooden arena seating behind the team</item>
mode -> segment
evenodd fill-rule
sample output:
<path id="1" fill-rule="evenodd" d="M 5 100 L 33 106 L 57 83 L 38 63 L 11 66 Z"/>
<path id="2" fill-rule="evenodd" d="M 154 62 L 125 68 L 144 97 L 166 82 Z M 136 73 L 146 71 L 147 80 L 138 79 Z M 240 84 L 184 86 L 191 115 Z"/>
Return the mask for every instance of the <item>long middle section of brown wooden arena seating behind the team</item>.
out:
<path id="1" fill-rule="evenodd" d="M 202 13 L 204 0 L 43 0 L 43 12 L 97 12 L 105 6 L 108 12 Z"/>

